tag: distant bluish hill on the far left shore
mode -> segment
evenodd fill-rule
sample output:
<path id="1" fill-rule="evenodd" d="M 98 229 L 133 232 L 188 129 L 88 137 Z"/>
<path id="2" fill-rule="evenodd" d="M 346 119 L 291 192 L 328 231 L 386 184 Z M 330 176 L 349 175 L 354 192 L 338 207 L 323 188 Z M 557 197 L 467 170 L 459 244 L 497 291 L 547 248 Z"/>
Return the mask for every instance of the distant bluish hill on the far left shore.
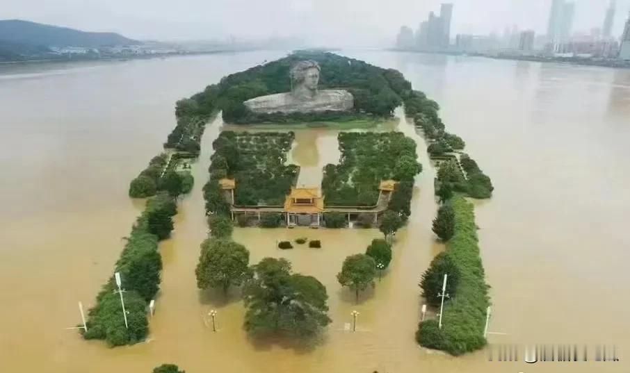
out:
<path id="1" fill-rule="evenodd" d="M 142 44 L 118 33 L 88 33 L 19 19 L 0 20 L 0 41 L 31 46 L 84 48 Z"/>

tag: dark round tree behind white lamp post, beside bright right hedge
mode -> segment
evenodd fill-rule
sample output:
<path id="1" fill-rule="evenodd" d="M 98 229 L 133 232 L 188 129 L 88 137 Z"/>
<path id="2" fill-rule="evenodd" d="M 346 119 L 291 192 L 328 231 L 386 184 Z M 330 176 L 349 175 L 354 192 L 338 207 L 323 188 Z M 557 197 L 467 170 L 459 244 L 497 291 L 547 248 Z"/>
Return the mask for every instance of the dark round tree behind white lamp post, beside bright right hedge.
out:
<path id="1" fill-rule="evenodd" d="M 455 262 L 445 252 L 437 254 L 426 272 L 422 274 L 420 281 L 420 288 L 422 288 L 422 296 L 426 299 L 427 303 L 431 306 L 439 306 L 442 300 L 439 297 L 439 293 L 442 292 L 442 285 L 444 284 L 444 274 L 447 274 L 446 281 L 446 294 L 449 297 L 455 297 L 458 284 L 460 282 L 460 270 L 455 265 Z"/>

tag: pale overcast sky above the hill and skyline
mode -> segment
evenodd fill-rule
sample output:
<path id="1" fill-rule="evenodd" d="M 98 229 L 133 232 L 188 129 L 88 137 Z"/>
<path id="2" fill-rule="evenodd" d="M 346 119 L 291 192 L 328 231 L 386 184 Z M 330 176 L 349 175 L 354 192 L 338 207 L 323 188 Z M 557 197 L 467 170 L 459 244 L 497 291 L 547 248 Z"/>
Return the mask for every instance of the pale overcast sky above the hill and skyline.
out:
<path id="1" fill-rule="evenodd" d="M 575 0 L 574 31 L 601 27 L 609 0 Z M 439 0 L 1 0 L 0 19 L 29 19 L 138 39 L 308 37 L 321 44 L 393 40 L 417 28 Z M 551 0 L 451 0 L 452 35 L 501 33 L 517 24 L 544 33 Z M 620 35 L 630 0 L 617 0 Z"/>

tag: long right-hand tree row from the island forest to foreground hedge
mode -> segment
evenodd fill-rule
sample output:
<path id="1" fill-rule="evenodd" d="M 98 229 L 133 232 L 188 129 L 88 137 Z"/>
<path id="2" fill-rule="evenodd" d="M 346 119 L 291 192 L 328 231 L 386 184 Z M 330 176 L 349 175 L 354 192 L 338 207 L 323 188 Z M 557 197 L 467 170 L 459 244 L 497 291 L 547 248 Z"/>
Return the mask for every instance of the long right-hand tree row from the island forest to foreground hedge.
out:
<path id="1" fill-rule="evenodd" d="M 452 151 L 461 151 L 465 142 L 457 135 L 445 131 L 437 114 L 439 106 L 419 91 L 401 94 L 405 114 L 413 118 L 416 126 L 432 140 L 427 151 L 432 158 L 448 158 Z M 439 164 L 435 194 L 439 197 L 433 232 L 446 242 L 446 251 L 438 254 L 423 274 L 420 287 L 430 306 L 442 300 L 444 274 L 448 274 L 446 292 L 450 298 L 442 310 L 442 329 L 436 320 L 421 322 L 416 333 L 417 342 L 424 347 L 442 349 L 453 355 L 480 349 L 486 343 L 483 336 L 485 311 L 490 305 L 489 286 L 485 283 L 483 264 L 474 218 L 474 206 L 462 194 L 474 198 L 489 198 L 492 183 L 474 160 L 461 154 L 460 164 L 446 160 Z"/>

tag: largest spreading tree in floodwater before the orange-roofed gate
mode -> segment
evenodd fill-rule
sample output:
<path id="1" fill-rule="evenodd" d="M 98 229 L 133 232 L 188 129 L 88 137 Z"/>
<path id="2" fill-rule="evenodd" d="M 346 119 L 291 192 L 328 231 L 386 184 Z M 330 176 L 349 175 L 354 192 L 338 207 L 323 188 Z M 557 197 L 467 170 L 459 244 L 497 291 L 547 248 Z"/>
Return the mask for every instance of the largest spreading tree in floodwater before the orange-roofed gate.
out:
<path id="1" fill-rule="evenodd" d="M 310 337 L 330 324 L 328 294 L 317 279 L 291 274 L 291 263 L 283 258 L 264 258 L 253 270 L 244 288 L 249 333 Z"/>

